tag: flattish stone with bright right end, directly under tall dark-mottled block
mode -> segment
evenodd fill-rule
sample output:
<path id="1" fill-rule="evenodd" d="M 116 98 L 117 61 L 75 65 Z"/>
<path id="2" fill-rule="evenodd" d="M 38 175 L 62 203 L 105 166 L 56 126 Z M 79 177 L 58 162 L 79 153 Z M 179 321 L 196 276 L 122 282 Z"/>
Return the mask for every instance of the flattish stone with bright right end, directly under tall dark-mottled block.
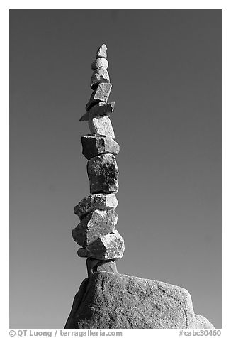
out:
<path id="1" fill-rule="evenodd" d="M 94 194 L 84 197 L 78 205 L 74 207 L 74 214 L 77 214 L 80 220 L 84 219 L 89 212 L 94 210 L 116 209 L 118 200 L 115 194 Z"/>

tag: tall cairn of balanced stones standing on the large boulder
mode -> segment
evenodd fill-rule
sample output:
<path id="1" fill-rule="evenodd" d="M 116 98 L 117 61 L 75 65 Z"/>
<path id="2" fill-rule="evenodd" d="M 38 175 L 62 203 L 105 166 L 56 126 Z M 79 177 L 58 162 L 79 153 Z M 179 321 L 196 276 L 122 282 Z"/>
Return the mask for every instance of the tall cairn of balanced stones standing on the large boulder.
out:
<path id="1" fill-rule="evenodd" d="M 82 153 L 88 160 L 86 169 L 90 194 L 74 207 L 80 223 L 72 230 L 72 237 L 82 246 L 78 256 L 87 258 L 88 276 L 99 271 L 117 273 L 116 260 L 125 249 L 123 238 L 115 229 L 118 214 L 118 166 L 115 155 L 120 146 L 109 116 L 115 102 L 108 103 L 111 83 L 108 75 L 107 47 L 101 45 L 96 60 L 91 64 L 91 89 L 93 90 L 86 113 L 79 121 L 88 121 L 90 134 L 81 136 Z"/>

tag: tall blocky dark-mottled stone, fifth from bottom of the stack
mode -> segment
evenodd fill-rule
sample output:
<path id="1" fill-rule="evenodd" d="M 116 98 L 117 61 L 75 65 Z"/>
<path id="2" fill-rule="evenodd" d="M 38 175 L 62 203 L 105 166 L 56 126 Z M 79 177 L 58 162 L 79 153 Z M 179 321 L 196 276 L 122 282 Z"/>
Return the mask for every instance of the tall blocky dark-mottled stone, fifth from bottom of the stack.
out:
<path id="1" fill-rule="evenodd" d="M 98 155 L 87 163 L 91 194 L 118 192 L 118 166 L 112 154 Z"/>

